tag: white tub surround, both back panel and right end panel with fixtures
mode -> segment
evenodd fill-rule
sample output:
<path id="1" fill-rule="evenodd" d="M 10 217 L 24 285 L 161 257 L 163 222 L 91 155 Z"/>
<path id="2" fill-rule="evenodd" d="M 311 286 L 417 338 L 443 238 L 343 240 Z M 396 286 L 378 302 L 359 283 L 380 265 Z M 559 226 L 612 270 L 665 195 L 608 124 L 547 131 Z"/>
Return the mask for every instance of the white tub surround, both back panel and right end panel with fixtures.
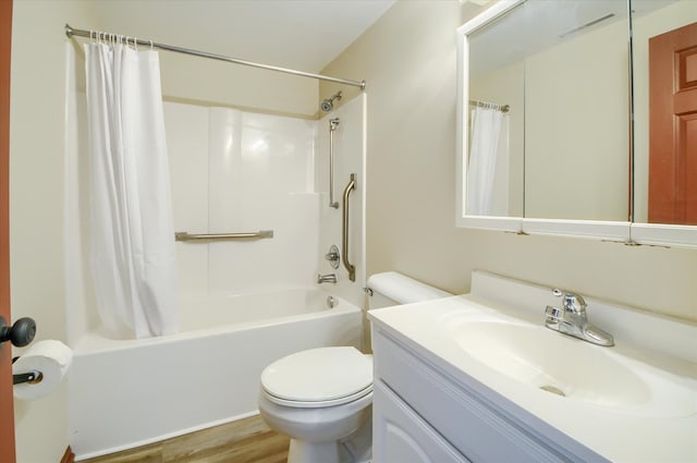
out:
<path id="1" fill-rule="evenodd" d="M 328 118 L 308 121 L 230 108 L 166 102 L 174 224 L 192 233 L 273 230 L 255 242 L 178 243 L 180 293 L 220 295 L 311 284 L 337 273 L 329 289 L 363 305 L 365 285 L 365 95 L 329 114 L 334 134 L 335 194 L 351 173 L 351 283 L 325 260 L 341 246 L 342 210 L 327 207 Z"/>

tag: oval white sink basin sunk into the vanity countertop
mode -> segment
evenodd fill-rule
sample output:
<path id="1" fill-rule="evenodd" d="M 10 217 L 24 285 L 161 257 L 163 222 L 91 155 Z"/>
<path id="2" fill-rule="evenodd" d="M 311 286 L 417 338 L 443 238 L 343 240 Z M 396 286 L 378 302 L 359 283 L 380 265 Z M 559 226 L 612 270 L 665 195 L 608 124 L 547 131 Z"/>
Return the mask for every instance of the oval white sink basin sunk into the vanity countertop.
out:
<path id="1" fill-rule="evenodd" d="M 601 405 L 638 405 L 646 382 L 604 350 L 545 327 L 475 321 L 453 331 L 476 361 L 535 388 Z"/>

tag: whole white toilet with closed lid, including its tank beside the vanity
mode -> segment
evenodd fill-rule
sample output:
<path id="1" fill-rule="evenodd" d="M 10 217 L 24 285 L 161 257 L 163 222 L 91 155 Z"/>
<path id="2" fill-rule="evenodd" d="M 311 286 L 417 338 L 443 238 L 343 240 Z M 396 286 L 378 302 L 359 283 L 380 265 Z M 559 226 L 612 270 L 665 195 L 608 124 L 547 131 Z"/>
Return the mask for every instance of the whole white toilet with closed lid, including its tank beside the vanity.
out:
<path id="1" fill-rule="evenodd" d="M 451 295 L 392 271 L 370 277 L 368 288 L 370 308 Z M 356 451 L 339 444 L 370 424 L 371 403 L 372 356 L 352 346 L 297 352 L 261 373 L 259 412 L 272 429 L 291 438 L 289 463 L 367 460 L 369 446 Z M 369 444 L 369 429 L 357 440 Z"/>

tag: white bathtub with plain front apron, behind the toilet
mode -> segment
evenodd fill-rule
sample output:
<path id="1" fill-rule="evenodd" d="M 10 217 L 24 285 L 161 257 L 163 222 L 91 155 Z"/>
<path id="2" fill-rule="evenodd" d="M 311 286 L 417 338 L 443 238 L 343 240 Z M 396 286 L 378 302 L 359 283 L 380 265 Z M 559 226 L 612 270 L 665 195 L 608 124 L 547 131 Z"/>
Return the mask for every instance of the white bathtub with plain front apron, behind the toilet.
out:
<path id="1" fill-rule="evenodd" d="M 304 349 L 360 344 L 362 310 L 318 289 L 285 289 L 182 305 L 178 334 L 111 340 L 86 333 L 68 376 L 77 460 L 258 413 L 261 370 Z"/>

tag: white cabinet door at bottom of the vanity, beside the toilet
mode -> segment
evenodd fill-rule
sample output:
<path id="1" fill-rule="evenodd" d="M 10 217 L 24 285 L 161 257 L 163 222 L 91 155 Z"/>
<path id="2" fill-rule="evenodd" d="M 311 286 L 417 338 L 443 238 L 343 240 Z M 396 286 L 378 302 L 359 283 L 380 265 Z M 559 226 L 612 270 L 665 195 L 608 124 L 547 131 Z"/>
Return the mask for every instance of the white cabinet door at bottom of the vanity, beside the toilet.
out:
<path id="1" fill-rule="evenodd" d="M 382 381 L 376 381 L 372 393 L 372 462 L 469 462 Z"/>

